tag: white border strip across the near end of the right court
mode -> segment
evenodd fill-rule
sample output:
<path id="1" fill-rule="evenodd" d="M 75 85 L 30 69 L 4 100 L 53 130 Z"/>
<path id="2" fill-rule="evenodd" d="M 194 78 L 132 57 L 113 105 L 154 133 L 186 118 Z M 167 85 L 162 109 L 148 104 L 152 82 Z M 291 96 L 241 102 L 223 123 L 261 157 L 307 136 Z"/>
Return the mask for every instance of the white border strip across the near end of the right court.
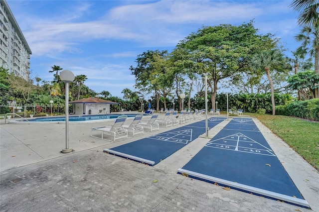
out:
<path id="1" fill-rule="evenodd" d="M 206 181 L 209 181 L 209 182 L 213 182 L 213 183 L 223 184 L 223 185 L 226 185 L 226 186 L 229 186 L 229 187 L 233 187 L 235 189 L 239 189 L 239 190 L 243 190 L 243 191 L 247 191 L 247 192 L 252 192 L 252 193 L 255 193 L 255 194 L 259 194 L 261 196 L 273 198 L 273 199 L 276 199 L 276 200 L 282 200 L 282 201 L 285 201 L 287 203 L 292 203 L 292 204 L 295 204 L 297 206 L 301 206 L 301 207 L 310 209 L 309 203 L 306 200 L 302 200 L 302 199 L 299 199 L 299 198 L 290 197 L 290 196 L 279 194 L 279 193 L 276 193 L 276 192 L 271 192 L 271 191 L 267 191 L 267 190 L 264 190 L 264 189 L 259 189 L 259 188 L 255 188 L 255 187 L 252 187 L 252 186 L 247 186 L 247 185 L 244 185 L 244 184 L 240 184 L 240 183 L 235 183 L 235 182 L 232 182 L 232 181 L 223 180 L 223 179 L 216 178 L 216 177 L 211 177 L 211 176 L 208 176 L 208 175 L 203 175 L 203 174 L 200 174 L 200 173 L 197 173 L 197 172 L 192 172 L 192 171 L 189 171 L 189 170 L 186 170 L 186 169 L 181 169 L 180 168 L 180 169 L 178 169 L 177 173 L 178 174 L 185 173 L 189 177 L 203 179 L 203 180 L 206 180 Z"/>

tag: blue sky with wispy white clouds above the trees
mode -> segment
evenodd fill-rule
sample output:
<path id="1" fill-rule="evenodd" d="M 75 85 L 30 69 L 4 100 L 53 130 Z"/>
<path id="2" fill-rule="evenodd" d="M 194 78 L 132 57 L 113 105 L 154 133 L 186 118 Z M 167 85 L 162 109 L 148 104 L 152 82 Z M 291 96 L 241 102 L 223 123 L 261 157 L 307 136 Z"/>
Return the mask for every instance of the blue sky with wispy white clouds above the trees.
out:
<path id="1" fill-rule="evenodd" d="M 292 0 L 7 0 L 32 51 L 31 77 L 52 81 L 54 65 L 86 75 L 84 85 L 123 98 L 138 55 L 168 50 L 202 26 L 254 20 L 280 38 L 286 54 L 300 43 Z"/>

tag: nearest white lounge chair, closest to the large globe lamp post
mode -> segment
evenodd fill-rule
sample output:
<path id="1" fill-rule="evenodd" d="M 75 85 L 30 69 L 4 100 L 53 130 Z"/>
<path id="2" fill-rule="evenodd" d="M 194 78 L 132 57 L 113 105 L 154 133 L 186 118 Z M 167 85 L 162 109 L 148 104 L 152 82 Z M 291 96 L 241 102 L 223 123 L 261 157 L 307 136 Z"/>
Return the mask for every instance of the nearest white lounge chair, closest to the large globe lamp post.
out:
<path id="1" fill-rule="evenodd" d="M 91 137 L 100 138 L 103 140 L 108 141 L 115 141 L 120 138 L 127 138 L 128 137 L 128 130 L 123 127 L 123 124 L 125 120 L 127 119 L 127 115 L 120 115 L 115 120 L 114 124 L 112 126 L 102 126 L 102 127 L 92 127 L 91 128 Z M 92 132 L 94 131 L 100 131 L 101 137 L 97 137 L 92 135 Z M 108 135 L 109 137 L 112 136 L 112 140 L 108 138 L 104 138 L 104 135 Z"/>

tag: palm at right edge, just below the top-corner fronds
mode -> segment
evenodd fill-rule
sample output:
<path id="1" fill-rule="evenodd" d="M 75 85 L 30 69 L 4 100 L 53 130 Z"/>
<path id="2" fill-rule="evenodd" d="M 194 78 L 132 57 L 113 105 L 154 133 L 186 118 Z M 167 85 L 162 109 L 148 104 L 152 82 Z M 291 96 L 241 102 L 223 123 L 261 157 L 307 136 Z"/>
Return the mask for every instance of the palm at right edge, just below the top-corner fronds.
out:
<path id="1" fill-rule="evenodd" d="M 315 72 L 319 74 L 319 24 L 316 26 L 304 26 L 301 32 L 295 36 L 301 46 L 296 50 L 298 54 L 315 58 Z M 316 98 L 319 98 L 316 91 Z"/>

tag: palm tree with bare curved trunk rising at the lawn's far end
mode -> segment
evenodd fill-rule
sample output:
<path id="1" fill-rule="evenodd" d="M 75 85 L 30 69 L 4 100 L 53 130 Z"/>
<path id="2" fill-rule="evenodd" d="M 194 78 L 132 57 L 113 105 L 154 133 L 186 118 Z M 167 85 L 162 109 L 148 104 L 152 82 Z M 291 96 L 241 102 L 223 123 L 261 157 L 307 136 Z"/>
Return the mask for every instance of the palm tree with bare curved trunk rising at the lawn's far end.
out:
<path id="1" fill-rule="evenodd" d="M 273 115 L 276 113 L 275 109 L 275 95 L 274 84 L 270 76 L 270 71 L 275 70 L 280 65 L 284 64 L 283 54 L 278 49 L 264 50 L 255 54 L 252 58 L 252 68 L 256 71 L 265 71 L 269 80 L 271 90 L 271 103 L 273 107 Z"/>

